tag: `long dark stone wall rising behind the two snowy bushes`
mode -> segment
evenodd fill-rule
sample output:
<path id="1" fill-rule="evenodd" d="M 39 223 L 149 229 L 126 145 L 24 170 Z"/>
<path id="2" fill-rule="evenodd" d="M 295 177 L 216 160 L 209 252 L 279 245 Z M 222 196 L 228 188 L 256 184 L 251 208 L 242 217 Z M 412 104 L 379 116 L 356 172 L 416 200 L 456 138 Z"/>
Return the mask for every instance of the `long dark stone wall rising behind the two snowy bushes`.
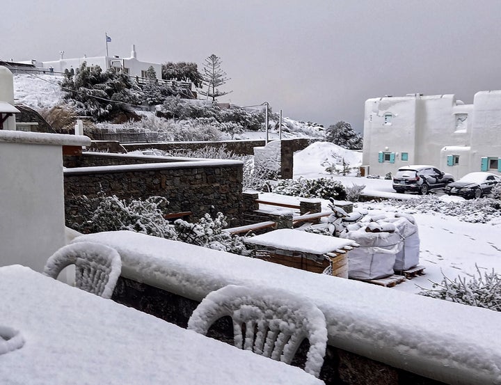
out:
<path id="1" fill-rule="evenodd" d="M 169 201 L 168 212 L 193 212 L 191 220 L 206 212 L 223 212 L 230 226 L 239 226 L 242 166 L 238 161 L 206 161 L 66 168 L 66 221 L 85 220 L 78 198 L 95 198 L 103 191 L 119 198 L 164 196 Z"/>

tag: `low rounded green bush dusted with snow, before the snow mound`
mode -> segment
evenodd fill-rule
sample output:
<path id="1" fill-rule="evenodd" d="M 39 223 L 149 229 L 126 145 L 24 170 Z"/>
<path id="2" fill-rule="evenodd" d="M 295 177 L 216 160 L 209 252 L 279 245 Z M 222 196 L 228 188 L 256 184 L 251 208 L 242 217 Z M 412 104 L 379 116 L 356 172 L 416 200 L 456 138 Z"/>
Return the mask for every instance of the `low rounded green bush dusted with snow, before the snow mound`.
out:
<path id="1" fill-rule="evenodd" d="M 273 187 L 273 192 L 301 198 L 334 198 L 340 201 L 346 199 L 346 190 L 341 182 L 327 178 L 279 180 Z"/>

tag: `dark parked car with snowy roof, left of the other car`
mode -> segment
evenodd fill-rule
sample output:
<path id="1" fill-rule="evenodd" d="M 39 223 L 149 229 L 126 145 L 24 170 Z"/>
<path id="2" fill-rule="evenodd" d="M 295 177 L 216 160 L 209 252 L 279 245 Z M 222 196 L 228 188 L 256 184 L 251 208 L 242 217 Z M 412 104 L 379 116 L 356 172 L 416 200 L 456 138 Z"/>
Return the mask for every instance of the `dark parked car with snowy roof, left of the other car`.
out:
<path id="1" fill-rule="evenodd" d="M 434 166 L 413 165 L 398 169 L 393 177 L 393 189 L 399 193 L 406 191 L 428 194 L 430 190 L 443 189 L 454 182 L 451 174 L 446 174 Z"/>

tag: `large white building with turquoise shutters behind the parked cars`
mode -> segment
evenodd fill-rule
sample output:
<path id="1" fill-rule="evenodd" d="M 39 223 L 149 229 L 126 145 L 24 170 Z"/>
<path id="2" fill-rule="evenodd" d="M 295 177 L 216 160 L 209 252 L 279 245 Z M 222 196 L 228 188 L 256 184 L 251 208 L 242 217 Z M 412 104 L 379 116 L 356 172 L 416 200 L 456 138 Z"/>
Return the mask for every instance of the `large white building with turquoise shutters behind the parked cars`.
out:
<path id="1" fill-rule="evenodd" d="M 456 179 L 501 173 L 501 91 L 476 93 L 473 104 L 454 95 L 367 100 L 363 164 L 374 175 L 408 164 L 432 164 Z"/>

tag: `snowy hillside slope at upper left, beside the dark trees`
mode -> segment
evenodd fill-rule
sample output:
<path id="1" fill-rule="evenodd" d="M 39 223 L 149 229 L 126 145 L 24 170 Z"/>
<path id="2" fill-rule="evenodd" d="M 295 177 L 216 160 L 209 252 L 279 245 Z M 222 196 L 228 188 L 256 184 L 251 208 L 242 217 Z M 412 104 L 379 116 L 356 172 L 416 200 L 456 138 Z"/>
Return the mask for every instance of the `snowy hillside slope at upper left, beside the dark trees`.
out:
<path id="1" fill-rule="evenodd" d="M 35 110 L 50 109 L 61 102 L 61 77 L 48 74 L 15 74 L 14 101 Z"/>

